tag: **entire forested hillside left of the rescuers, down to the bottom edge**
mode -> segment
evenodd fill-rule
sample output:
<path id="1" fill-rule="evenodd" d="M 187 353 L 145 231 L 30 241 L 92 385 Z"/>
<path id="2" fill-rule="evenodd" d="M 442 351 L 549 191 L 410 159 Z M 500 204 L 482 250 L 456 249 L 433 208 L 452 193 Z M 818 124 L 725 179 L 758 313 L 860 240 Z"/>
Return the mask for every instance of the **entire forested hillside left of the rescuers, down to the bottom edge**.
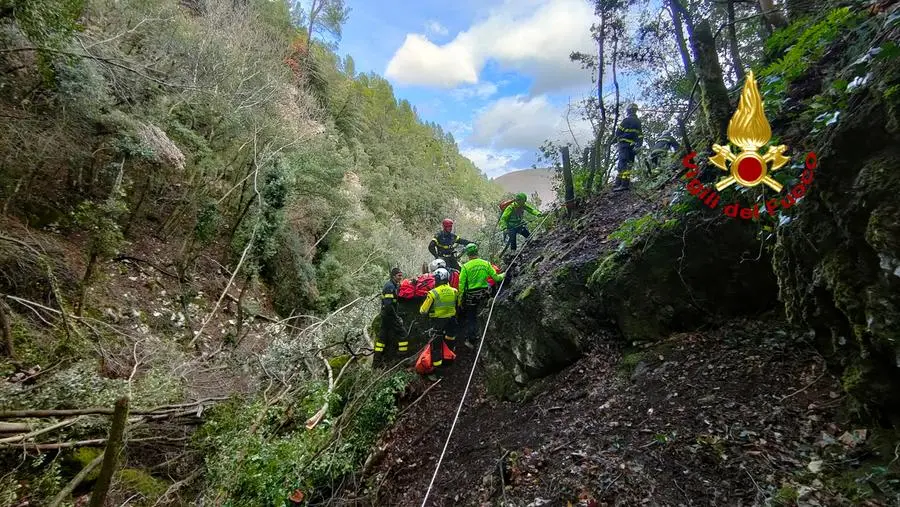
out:
<path id="1" fill-rule="evenodd" d="M 384 78 L 338 56 L 349 12 L 340 1 L 0 1 L 0 411 L 103 407 L 47 414 L 62 428 L 53 442 L 68 442 L 56 447 L 23 446 L 19 428 L 40 419 L 0 422 L 0 504 L 71 502 L 67 483 L 86 491 L 102 410 L 125 395 L 134 417 L 116 505 L 204 494 L 273 505 L 357 466 L 402 375 L 377 383 L 379 397 L 354 391 L 368 369 L 347 371 L 344 389 L 357 388 L 341 403 L 361 402 L 368 419 L 342 429 L 356 440 L 334 468 L 302 477 L 290 471 L 339 430 L 285 431 L 271 408 L 292 425 L 295 403 L 316 406 L 306 418 L 333 399 L 322 347 L 354 363 L 390 267 L 416 272 L 445 216 L 480 237 L 501 191 Z M 232 394 L 191 441 L 210 420 L 203 408 Z"/>

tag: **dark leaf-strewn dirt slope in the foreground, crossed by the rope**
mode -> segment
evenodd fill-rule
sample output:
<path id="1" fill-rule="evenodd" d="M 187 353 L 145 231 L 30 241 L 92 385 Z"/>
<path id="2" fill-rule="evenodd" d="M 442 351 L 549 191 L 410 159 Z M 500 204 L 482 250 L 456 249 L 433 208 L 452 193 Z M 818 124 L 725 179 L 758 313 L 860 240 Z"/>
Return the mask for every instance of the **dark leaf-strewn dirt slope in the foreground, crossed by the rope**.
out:
<path id="1" fill-rule="evenodd" d="M 865 430 L 835 423 L 839 383 L 786 333 L 739 321 L 627 354 L 600 346 L 521 404 L 489 398 L 479 366 L 428 505 L 762 505 L 795 492 L 799 505 L 859 505 L 812 470 L 852 459 Z M 474 354 L 408 407 L 367 491 L 344 500 L 422 504 Z"/>

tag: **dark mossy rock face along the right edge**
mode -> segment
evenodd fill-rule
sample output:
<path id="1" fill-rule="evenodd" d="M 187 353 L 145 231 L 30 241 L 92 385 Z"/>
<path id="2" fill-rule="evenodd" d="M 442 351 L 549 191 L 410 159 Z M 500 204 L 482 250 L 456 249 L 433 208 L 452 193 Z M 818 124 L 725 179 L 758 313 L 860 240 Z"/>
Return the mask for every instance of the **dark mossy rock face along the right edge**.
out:
<path id="1" fill-rule="evenodd" d="M 893 32 L 896 39 L 897 29 Z M 891 39 L 888 33 L 880 37 Z M 850 95 L 833 130 L 823 139 L 806 139 L 815 143 L 819 155 L 815 185 L 793 220 L 779 229 L 773 265 L 790 321 L 815 331 L 822 353 L 843 370 L 844 388 L 860 406 L 882 415 L 894 413 L 896 418 L 900 408 L 896 60 L 873 60 L 865 79 L 869 84 Z"/>

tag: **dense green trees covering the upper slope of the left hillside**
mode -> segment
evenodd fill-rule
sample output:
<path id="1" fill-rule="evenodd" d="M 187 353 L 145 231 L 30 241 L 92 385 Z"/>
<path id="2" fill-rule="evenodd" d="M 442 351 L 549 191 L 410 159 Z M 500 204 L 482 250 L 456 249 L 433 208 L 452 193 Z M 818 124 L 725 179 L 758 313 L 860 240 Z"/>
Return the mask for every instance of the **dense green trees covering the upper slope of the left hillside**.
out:
<path id="1" fill-rule="evenodd" d="M 183 274 L 225 239 L 223 261 L 243 259 L 246 282 L 262 276 L 289 314 L 368 293 L 390 265 L 419 262 L 441 218 L 477 217 L 499 195 L 450 134 L 384 78 L 308 43 L 281 2 L 212 3 L 199 16 L 163 1 L 11 9 L 3 44 L 52 57 L 46 83 L 30 50 L 4 65 L 34 72 L 0 78 L 17 113 L 0 131 L 0 198 L 33 225 L 182 236 Z M 82 44 L 60 42 L 76 19 Z M 84 204 L 83 225 L 65 213 L 119 179 L 115 212 Z M 385 236 L 423 245 L 398 252 Z"/>

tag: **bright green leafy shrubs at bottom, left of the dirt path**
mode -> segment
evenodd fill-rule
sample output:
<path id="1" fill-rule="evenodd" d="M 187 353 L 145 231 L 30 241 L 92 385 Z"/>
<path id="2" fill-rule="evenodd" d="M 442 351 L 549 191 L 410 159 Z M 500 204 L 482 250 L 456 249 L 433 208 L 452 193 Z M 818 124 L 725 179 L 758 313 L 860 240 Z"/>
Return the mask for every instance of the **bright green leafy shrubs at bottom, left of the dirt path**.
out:
<path id="1" fill-rule="evenodd" d="M 233 400 L 217 407 L 196 438 L 206 456 L 210 494 L 227 498 L 223 505 L 281 505 L 296 489 L 307 498 L 327 495 L 335 481 L 362 465 L 397 415 L 395 397 L 410 380 L 405 372 L 383 380 L 369 377 L 348 381 L 330 397 L 327 386 L 311 385 L 284 405 Z M 371 392 L 348 391 L 354 381 L 369 381 Z M 294 427 L 326 397 L 325 421 L 312 431 Z M 335 425 L 341 430 L 337 436 Z"/>

